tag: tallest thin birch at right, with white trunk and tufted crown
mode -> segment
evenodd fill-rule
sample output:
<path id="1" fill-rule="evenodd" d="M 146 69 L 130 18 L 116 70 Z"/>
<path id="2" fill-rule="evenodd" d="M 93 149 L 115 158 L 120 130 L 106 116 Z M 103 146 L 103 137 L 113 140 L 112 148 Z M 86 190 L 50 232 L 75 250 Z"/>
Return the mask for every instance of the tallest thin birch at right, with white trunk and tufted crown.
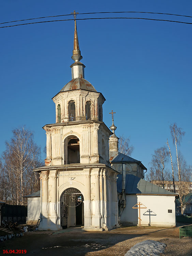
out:
<path id="1" fill-rule="evenodd" d="M 183 197 L 183 188 L 182 188 L 182 179 L 181 179 L 181 161 L 180 158 L 178 156 L 178 150 L 177 150 L 177 146 L 180 145 L 180 142 L 182 140 L 182 137 L 184 136 L 185 132 L 182 131 L 181 127 L 177 127 L 177 124 L 174 123 L 173 125 L 169 126 L 170 131 L 171 131 L 171 136 L 173 139 L 173 144 L 175 144 L 175 149 L 176 149 L 176 157 L 177 157 L 177 174 L 178 174 L 178 180 L 179 180 L 179 198 L 180 198 L 180 203 L 182 204 L 182 197 Z M 183 214 L 183 208 L 181 205 L 181 214 Z"/>

